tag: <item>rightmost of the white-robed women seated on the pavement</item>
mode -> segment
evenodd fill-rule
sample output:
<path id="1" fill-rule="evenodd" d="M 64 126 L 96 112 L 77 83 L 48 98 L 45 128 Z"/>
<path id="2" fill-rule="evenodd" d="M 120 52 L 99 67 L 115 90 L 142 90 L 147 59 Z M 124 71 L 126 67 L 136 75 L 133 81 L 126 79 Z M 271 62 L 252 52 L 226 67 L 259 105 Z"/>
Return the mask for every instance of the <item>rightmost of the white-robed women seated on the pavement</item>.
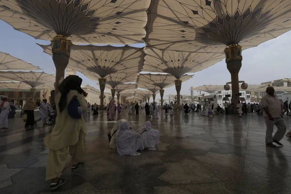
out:
<path id="1" fill-rule="evenodd" d="M 145 128 L 140 129 L 140 133 L 145 148 L 148 148 L 149 150 L 156 150 L 156 146 L 158 146 L 160 141 L 160 131 L 157 129 L 152 129 L 151 123 L 146 121 Z"/>

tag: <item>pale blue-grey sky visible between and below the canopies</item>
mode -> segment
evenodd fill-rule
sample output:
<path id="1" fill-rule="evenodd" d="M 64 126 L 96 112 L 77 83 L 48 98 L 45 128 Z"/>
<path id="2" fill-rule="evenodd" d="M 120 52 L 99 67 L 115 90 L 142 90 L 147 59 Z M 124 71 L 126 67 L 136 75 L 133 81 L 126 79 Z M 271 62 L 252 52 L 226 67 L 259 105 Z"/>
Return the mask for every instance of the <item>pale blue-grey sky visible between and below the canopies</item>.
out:
<path id="1" fill-rule="evenodd" d="M 40 66 L 46 73 L 51 74 L 54 67 L 52 58 L 43 52 L 36 43 L 50 44 L 49 41 L 35 40 L 33 37 L 14 30 L 10 25 L 0 20 L 0 51 L 11 54 L 32 65 Z M 291 58 L 291 32 L 260 44 L 257 47 L 242 51 L 242 68 L 239 80 L 248 84 L 260 84 L 265 81 L 291 78 L 289 71 Z M 91 85 L 99 89 L 96 81 L 92 81 L 81 73 L 83 85 Z M 225 59 L 200 72 L 182 83 L 181 95 L 190 95 L 190 87 L 200 85 L 224 85 L 230 80 L 230 73 L 226 69 Z M 105 92 L 110 92 L 106 90 Z M 176 94 L 175 86 L 166 88 L 164 99 L 169 94 Z M 198 92 L 194 92 L 198 95 Z M 160 99 L 157 95 L 156 99 Z"/>

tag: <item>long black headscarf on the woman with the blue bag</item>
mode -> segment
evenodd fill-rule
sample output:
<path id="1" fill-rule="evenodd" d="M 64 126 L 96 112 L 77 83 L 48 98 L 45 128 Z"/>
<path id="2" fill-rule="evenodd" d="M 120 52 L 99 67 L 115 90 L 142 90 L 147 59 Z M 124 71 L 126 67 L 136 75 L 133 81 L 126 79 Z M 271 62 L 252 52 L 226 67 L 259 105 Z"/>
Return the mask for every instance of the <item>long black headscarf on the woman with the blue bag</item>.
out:
<path id="1" fill-rule="evenodd" d="M 69 75 L 65 80 L 59 85 L 58 89 L 61 93 L 61 99 L 59 102 L 60 112 L 65 109 L 67 104 L 67 94 L 71 90 L 77 90 L 78 93 L 82 94 L 84 90 L 81 88 L 82 79 L 79 76 Z"/>

